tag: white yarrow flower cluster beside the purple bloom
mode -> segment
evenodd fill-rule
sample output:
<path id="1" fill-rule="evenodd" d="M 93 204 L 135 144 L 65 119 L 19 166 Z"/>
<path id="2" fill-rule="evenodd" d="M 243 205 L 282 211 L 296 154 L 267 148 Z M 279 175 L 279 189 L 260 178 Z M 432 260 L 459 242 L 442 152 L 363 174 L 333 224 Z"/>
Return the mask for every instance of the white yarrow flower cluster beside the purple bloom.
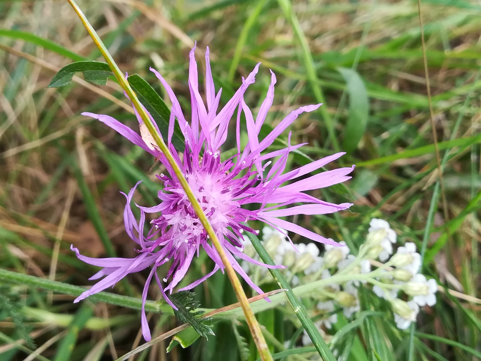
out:
<path id="1" fill-rule="evenodd" d="M 262 242 L 275 263 L 286 266 L 282 272 L 293 287 L 313 284 L 313 290 L 304 295 L 304 303 L 311 305 L 311 316 L 316 320 L 314 323 L 327 342 L 330 337 L 327 332 L 337 322 L 339 312 L 352 318 L 360 310 L 360 284 L 372 285 L 374 294 L 389 302 L 394 322 L 400 329 L 405 329 L 416 321 L 419 307 L 433 306 L 436 303 L 436 281 L 427 280 L 423 274 L 418 273 L 421 259 L 416 252 L 416 245 L 405 243 L 392 255 L 392 245 L 396 240 L 396 233 L 388 222 L 372 219 L 366 242 L 361 245 L 357 256 L 350 254 L 349 247 L 344 242 L 340 242 L 344 247 L 325 245 L 323 255 L 319 255 L 319 249 L 314 243 L 296 245 L 300 252 L 295 253 L 283 230 L 269 227 L 263 229 Z M 243 243 L 244 252 L 256 258 L 247 237 Z M 381 258 L 385 263 L 371 269 L 370 259 Z M 264 268 L 246 262 L 242 263 L 242 267 L 258 284 L 273 282 L 270 273 Z M 407 301 L 398 298 L 399 291 L 404 292 Z M 305 332 L 302 341 L 304 345 L 311 343 Z"/>

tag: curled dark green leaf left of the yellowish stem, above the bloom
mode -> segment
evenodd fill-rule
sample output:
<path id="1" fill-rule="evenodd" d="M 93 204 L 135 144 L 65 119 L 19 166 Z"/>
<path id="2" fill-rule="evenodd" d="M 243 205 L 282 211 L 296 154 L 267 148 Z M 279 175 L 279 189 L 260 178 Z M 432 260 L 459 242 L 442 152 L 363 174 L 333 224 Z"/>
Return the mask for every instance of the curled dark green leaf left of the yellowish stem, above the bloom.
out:
<path id="1" fill-rule="evenodd" d="M 65 65 L 53 77 L 49 84 L 49 88 L 62 87 L 70 84 L 75 73 L 83 73 L 85 80 L 97 84 L 107 84 L 107 78 L 112 75 L 109 64 L 95 62 L 93 60 L 84 60 Z"/>

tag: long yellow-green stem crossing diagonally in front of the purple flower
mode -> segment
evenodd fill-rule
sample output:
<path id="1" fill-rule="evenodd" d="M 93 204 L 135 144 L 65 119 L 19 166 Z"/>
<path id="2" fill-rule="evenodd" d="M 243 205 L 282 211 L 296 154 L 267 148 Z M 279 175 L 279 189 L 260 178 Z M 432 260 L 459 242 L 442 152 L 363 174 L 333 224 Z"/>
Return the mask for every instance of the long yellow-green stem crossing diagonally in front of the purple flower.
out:
<path id="1" fill-rule="evenodd" d="M 178 167 L 173 155 L 170 153 L 169 149 L 165 145 L 164 140 L 160 136 L 159 133 L 157 133 L 154 125 L 152 124 L 152 121 L 150 117 L 147 115 L 146 111 L 144 110 L 143 106 L 139 102 L 139 99 L 137 98 L 137 95 L 135 92 L 130 88 L 130 85 L 127 82 L 127 79 L 124 77 L 120 69 L 118 68 L 117 64 L 115 64 L 114 59 L 110 55 L 110 53 L 107 51 L 105 46 L 103 45 L 101 39 L 93 29 L 93 27 L 90 25 L 89 21 L 85 17 L 85 15 L 82 13 L 80 8 L 77 6 L 74 0 L 68 0 L 70 5 L 74 8 L 75 12 L 77 13 L 78 17 L 82 21 L 83 25 L 89 32 L 90 37 L 94 41 L 95 45 L 99 50 L 101 51 L 103 57 L 107 61 L 107 64 L 109 64 L 110 68 L 114 72 L 114 76 L 117 78 L 120 86 L 122 87 L 123 90 L 126 91 L 127 96 L 130 98 L 131 102 L 133 103 L 135 109 L 139 113 L 140 117 L 142 118 L 145 126 L 147 129 L 149 129 L 149 132 L 152 134 L 153 139 L 157 143 L 159 149 L 161 150 L 162 153 L 164 153 L 165 158 L 169 162 L 169 165 L 172 167 L 174 170 L 174 173 L 177 176 L 177 179 L 180 182 L 180 185 L 184 189 L 184 192 L 186 193 L 187 197 L 190 200 L 190 203 L 192 204 L 192 208 L 194 209 L 195 213 L 197 214 L 197 217 L 199 217 L 199 220 L 201 221 L 202 225 L 205 228 L 205 231 L 209 235 L 210 239 L 212 240 L 213 245 L 215 246 L 215 249 L 217 250 L 217 253 L 220 256 L 220 259 L 222 260 L 222 263 L 224 264 L 224 267 L 226 268 L 228 277 L 230 279 L 230 282 L 232 283 L 232 286 L 234 288 L 234 291 L 236 293 L 237 298 L 239 299 L 239 302 L 241 303 L 242 310 L 244 311 L 245 314 L 245 319 L 246 322 L 249 326 L 249 329 L 251 331 L 251 334 L 253 336 L 255 345 L 257 347 L 257 350 L 259 351 L 259 355 L 261 356 L 261 359 L 263 361 L 270 361 L 272 359 L 272 355 L 269 352 L 269 349 L 267 348 L 266 340 L 264 338 L 264 335 L 262 335 L 259 323 L 255 319 L 254 313 L 252 309 L 249 306 L 249 302 L 247 300 L 247 296 L 245 295 L 241 282 L 237 278 L 237 274 L 232 268 L 231 264 L 229 263 L 229 260 L 227 258 L 227 255 L 224 251 L 223 246 L 221 245 L 219 239 L 217 238 L 217 235 L 215 234 L 214 229 L 212 228 L 212 225 L 209 223 L 209 220 L 205 216 L 203 209 L 201 205 L 199 204 L 197 198 L 195 195 L 192 193 L 190 190 L 189 184 L 187 180 L 184 177 L 184 174 Z"/>

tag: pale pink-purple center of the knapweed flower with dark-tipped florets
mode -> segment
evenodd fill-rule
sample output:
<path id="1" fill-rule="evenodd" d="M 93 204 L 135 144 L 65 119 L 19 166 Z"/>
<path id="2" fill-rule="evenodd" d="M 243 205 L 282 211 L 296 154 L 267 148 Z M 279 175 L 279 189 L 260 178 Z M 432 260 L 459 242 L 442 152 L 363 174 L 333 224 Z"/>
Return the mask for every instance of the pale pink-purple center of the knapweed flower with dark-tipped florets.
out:
<path id="1" fill-rule="evenodd" d="M 210 151 L 205 152 L 197 162 L 186 151 L 184 172 L 192 193 L 217 237 L 221 242 L 227 237 L 233 245 L 241 247 L 238 238 L 243 230 L 254 231 L 241 224 L 251 219 L 253 213 L 242 209 L 240 200 L 249 195 L 246 192 L 257 182 L 256 172 L 247 170 L 242 176 L 236 177 L 239 168 L 233 161 L 221 163 L 220 153 L 213 154 Z M 177 249 L 182 245 L 203 245 L 209 236 L 180 183 L 164 174 L 158 178 L 164 183 L 164 191 L 159 192 L 164 210 L 159 218 L 151 222 L 152 231 L 155 229 L 161 232 L 154 245 L 166 244 L 169 240 Z"/>

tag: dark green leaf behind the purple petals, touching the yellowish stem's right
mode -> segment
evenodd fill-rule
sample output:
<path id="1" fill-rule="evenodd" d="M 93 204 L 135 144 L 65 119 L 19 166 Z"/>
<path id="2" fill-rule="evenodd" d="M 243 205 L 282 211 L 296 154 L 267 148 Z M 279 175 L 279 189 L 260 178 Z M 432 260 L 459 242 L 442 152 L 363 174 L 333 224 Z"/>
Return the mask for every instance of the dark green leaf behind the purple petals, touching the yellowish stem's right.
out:
<path id="1" fill-rule="evenodd" d="M 150 113 L 159 130 L 167 142 L 167 134 L 169 129 L 170 110 L 167 104 L 157 94 L 157 92 L 138 74 L 133 74 L 127 77 L 127 81 L 132 89 L 137 94 L 140 103 L 145 106 L 145 109 Z M 172 136 L 172 144 L 178 151 L 183 151 L 185 147 L 184 136 L 178 122 L 174 126 L 174 135 Z"/>

